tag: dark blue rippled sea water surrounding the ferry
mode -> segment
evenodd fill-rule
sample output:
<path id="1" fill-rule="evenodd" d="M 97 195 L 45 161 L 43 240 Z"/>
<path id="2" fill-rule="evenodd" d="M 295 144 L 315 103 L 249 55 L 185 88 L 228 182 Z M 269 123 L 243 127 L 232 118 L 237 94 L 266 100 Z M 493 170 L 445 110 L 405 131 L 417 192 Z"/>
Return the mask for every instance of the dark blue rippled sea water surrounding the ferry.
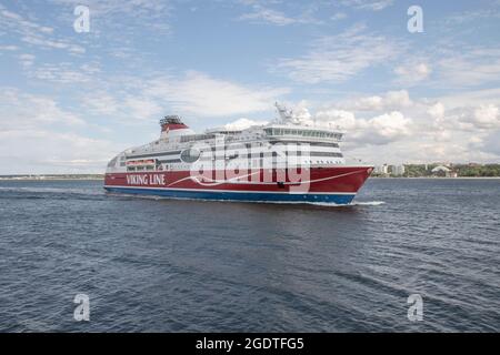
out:
<path id="1" fill-rule="evenodd" d="M 0 331 L 500 331 L 500 180 L 372 179 L 356 201 L 0 182 Z M 73 321 L 78 293 L 88 323 Z"/>

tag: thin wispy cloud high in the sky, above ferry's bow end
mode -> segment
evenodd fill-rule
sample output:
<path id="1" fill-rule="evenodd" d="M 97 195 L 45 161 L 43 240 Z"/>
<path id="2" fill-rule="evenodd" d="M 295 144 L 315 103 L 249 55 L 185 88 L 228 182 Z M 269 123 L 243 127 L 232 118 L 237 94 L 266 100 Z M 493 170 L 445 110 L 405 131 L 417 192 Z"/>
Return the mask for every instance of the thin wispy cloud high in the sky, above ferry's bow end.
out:
<path id="1" fill-rule="evenodd" d="M 294 59 L 282 59 L 276 70 L 306 83 L 342 82 L 368 68 L 386 63 L 400 52 L 391 40 L 353 27 L 332 37 L 314 40 L 310 51 Z"/>

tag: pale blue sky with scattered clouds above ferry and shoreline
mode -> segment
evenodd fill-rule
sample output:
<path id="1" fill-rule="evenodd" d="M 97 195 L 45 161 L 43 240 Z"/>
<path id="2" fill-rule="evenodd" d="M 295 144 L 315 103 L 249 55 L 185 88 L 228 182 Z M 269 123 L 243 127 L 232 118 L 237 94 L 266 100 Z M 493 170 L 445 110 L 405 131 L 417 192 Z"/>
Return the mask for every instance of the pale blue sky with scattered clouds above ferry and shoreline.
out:
<path id="1" fill-rule="evenodd" d="M 499 163 L 500 0 L 0 0 L 0 174 L 102 173 L 166 114 L 276 101 L 349 159 Z"/>

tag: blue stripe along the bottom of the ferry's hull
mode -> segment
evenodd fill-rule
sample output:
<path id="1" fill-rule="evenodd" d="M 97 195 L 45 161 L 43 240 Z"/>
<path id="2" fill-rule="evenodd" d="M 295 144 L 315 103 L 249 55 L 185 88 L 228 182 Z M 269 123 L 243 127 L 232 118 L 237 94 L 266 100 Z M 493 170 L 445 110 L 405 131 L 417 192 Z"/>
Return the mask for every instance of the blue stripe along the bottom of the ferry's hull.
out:
<path id="1" fill-rule="evenodd" d="M 224 201 L 248 201 L 248 202 L 321 202 L 349 204 L 354 199 L 354 194 L 287 194 L 287 193 L 246 193 L 246 192 L 213 192 L 213 191 L 181 191 L 160 189 L 123 189 L 104 187 L 109 192 L 128 194 L 143 194 L 153 196 L 166 196 L 174 199 L 199 199 L 199 200 L 224 200 Z"/>

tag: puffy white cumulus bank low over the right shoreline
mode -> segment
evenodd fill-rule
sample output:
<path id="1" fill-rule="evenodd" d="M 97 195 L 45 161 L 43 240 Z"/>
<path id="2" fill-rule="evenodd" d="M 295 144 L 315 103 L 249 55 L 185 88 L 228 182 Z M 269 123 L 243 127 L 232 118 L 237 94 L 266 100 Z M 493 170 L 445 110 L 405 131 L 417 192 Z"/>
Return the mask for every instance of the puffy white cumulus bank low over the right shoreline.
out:
<path id="1" fill-rule="evenodd" d="M 494 133 L 500 132 L 499 104 L 448 106 L 440 99 L 411 100 L 404 90 L 348 103 L 302 114 L 304 124 L 344 130 L 342 148 L 348 159 L 377 164 L 500 159 L 494 143 L 500 136 Z M 304 110 L 302 103 L 298 106 Z"/>

